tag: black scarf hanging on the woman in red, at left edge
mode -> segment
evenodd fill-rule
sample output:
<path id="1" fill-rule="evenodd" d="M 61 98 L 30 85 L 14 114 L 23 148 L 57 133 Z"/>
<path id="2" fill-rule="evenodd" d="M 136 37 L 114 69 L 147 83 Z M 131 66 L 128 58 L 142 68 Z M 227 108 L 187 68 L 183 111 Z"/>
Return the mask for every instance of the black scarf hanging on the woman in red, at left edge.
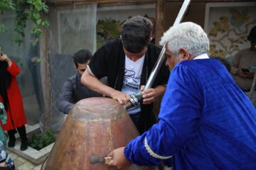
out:
<path id="1" fill-rule="evenodd" d="M 11 74 L 7 71 L 8 63 L 0 62 L 0 95 L 3 98 L 4 107 L 9 109 L 7 89 L 11 86 Z"/>

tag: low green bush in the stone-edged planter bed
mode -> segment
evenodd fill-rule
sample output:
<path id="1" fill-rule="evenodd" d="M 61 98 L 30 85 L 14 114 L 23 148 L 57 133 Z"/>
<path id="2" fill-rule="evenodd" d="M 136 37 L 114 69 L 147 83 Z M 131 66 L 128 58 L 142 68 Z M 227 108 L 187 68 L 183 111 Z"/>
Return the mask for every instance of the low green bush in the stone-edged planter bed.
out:
<path id="1" fill-rule="evenodd" d="M 34 149 L 40 150 L 43 147 L 46 147 L 53 142 L 55 142 L 55 135 L 53 130 L 48 130 L 43 134 L 33 134 L 31 135 L 31 139 L 28 139 L 28 145 L 33 147 Z"/>

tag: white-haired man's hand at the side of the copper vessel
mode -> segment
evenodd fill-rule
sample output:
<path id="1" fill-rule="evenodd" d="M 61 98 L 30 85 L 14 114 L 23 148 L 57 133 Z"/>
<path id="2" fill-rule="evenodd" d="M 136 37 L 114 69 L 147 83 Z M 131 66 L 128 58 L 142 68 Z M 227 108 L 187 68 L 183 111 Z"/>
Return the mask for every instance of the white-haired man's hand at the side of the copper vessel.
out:
<path id="1" fill-rule="evenodd" d="M 110 152 L 110 154 L 107 155 L 107 157 L 113 158 L 112 161 L 107 165 L 117 169 L 123 169 L 132 164 L 132 162 L 129 162 L 124 156 L 124 147 L 114 149 L 112 152 Z"/>

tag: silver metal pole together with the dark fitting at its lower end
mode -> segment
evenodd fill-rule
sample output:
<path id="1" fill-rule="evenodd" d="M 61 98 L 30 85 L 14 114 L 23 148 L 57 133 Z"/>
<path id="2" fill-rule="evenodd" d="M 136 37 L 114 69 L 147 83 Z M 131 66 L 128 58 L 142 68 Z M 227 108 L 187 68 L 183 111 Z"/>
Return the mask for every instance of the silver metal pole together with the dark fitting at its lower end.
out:
<path id="1" fill-rule="evenodd" d="M 174 22 L 174 26 L 176 26 L 178 23 L 181 23 L 181 20 L 183 18 L 183 16 L 186 13 L 186 10 L 188 8 L 188 5 L 190 4 L 191 0 L 184 0 L 183 4 L 181 6 L 181 10 L 178 12 L 178 16 Z M 161 64 L 164 62 L 165 59 L 165 45 L 162 47 L 162 50 L 160 52 L 160 55 L 156 61 L 156 64 L 154 65 L 151 74 L 149 75 L 149 80 L 146 82 L 146 85 L 144 87 L 145 91 L 146 89 L 151 88 L 152 84 L 154 83 L 154 79 L 156 78 L 157 73 L 159 72 L 159 69 L 161 68 Z M 143 98 L 142 98 L 142 91 L 137 91 L 137 94 L 131 94 L 130 98 L 129 98 L 129 102 L 127 102 L 124 107 L 125 108 L 132 108 L 132 107 L 136 107 L 139 106 L 139 104 L 142 102 Z"/>

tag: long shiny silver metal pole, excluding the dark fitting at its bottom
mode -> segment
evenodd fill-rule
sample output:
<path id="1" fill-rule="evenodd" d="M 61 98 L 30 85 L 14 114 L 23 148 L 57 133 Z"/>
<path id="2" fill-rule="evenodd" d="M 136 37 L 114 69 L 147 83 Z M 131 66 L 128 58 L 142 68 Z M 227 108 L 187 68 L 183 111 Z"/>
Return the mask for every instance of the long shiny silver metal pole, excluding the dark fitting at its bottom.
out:
<path id="1" fill-rule="evenodd" d="M 176 20 L 174 21 L 173 26 L 176 26 L 178 23 L 181 23 L 181 20 L 182 20 L 183 16 L 185 15 L 186 10 L 187 10 L 190 2 L 191 2 L 191 0 L 184 0 L 183 1 L 183 4 L 181 6 L 180 11 L 178 12 L 178 16 L 177 16 Z M 165 49 L 165 45 L 164 45 L 162 50 L 161 50 L 161 53 L 159 55 L 159 58 L 157 59 L 156 64 L 154 65 L 154 67 L 152 69 L 152 72 L 149 75 L 149 80 L 146 82 L 146 85 L 145 85 L 143 91 L 145 91 L 146 89 L 151 88 L 152 84 L 154 83 L 154 79 L 156 78 L 156 74 L 159 72 L 161 64 L 164 62 L 164 58 L 165 58 L 164 52 L 165 52 L 165 50 L 166 49 Z"/>

